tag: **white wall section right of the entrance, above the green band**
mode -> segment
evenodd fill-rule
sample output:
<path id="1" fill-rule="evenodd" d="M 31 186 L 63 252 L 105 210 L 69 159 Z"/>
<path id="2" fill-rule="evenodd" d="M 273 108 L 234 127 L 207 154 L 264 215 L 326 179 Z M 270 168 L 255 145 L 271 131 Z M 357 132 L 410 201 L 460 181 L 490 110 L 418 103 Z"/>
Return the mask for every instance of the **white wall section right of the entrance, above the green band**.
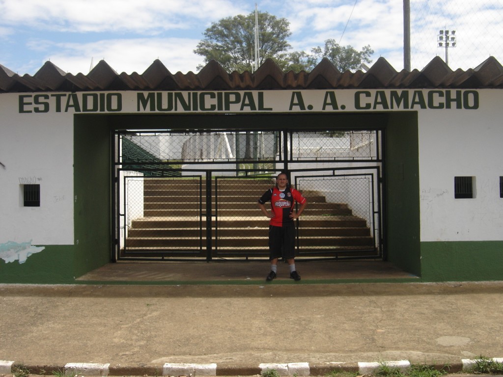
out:
<path id="1" fill-rule="evenodd" d="M 422 241 L 503 239 L 503 90 L 478 91 L 478 110 L 418 114 Z M 454 176 L 475 176 L 474 199 L 454 199 Z"/>

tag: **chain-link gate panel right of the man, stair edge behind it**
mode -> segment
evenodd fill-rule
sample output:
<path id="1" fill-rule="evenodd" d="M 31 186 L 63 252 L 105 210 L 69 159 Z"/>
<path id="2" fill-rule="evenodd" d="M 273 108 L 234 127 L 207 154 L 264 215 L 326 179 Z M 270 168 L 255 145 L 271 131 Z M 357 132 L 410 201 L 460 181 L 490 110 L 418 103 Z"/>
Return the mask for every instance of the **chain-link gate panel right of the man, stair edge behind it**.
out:
<path id="1" fill-rule="evenodd" d="M 304 176 L 296 185 L 308 199 L 299 255 L 377 256 L 373 174 Z"/>

